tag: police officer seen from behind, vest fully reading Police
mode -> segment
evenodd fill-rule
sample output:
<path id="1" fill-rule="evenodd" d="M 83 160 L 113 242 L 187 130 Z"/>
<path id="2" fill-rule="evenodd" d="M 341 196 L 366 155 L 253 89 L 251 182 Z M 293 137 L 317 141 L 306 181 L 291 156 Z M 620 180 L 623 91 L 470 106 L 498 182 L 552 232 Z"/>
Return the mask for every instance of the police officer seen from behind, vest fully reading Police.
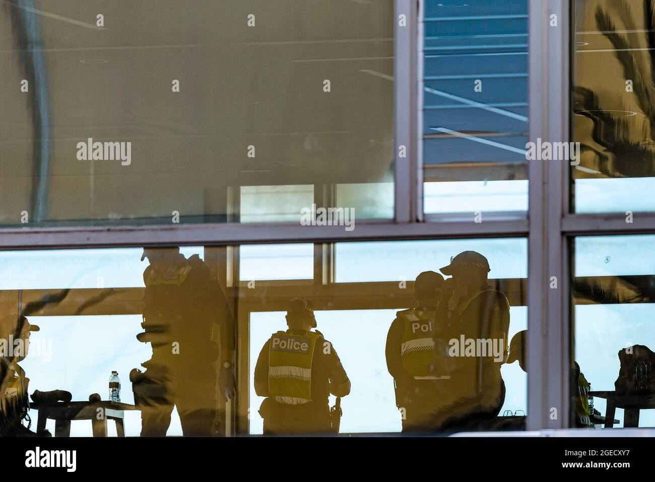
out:
<path id="1" fill-rule="evenodd" d="M 255 392 L 267 397 L 259 407 L 264 435 L 333 433 L 328 397 L 348 395 L 350 380 L 332 344 L 312 331 L 311 302 L 291 300 L 286 320 L 289 329 L 271 336 L 255 367 Z"/>

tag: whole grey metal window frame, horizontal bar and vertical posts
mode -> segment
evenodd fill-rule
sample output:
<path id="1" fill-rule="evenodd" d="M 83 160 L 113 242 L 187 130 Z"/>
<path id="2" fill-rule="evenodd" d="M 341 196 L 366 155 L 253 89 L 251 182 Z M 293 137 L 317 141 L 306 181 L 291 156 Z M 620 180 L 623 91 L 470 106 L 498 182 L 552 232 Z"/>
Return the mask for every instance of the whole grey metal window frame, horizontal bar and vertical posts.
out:
<path id="1" fill-rule="evenodd" d="M 571 140 L 571 23 L 569 0 L 529 1 L 529 140 Z M 6 227 L 0 249 L 70 249 L 165 245 L 247 245 L 257 243 L 333 243 L 466 237 L 527 237 L 529 319 L 527 430 L 569 426 L 571 361 L 571 273 L 568 242 L 576 235 L 655 232 L 655 212 L 624 214 L 569 212 L 569 166 L 531 161 L 529 210 L 473 216 L 422 213 L 422 34 L 424 0 L 396 0 L 394 5 L 394 219 L 361 221 L 353 231 L 343 226 L 289 223 L 170 224 L 147 226 Z M 556 14 L 557 27 L 549 26 Z M 398 18 L 405 15 L 407 25 Z M 399 158 L 399 147 L 407 157 Z M 236 250 L 238 252 L 238 249 Z M 316 266 L 325 254 L 315 251 Z M 238 257 L 238 256 L 236 256 Z M 234 260 L 238 270 L 238 260 Z M 228 268 L 229 269 L 229 268 Z M 238 271 L 236 271 L 238 272 Z M 551 279 L 557 278 L 557 289 Z M 563 322 L 564 321 L 564 322 Z M 552 407 L 558 416 L 552 418 Z M 228 407 L 228 418 L 231 410 Z M 231 432 L 230 429 L 227 432 Z"/>

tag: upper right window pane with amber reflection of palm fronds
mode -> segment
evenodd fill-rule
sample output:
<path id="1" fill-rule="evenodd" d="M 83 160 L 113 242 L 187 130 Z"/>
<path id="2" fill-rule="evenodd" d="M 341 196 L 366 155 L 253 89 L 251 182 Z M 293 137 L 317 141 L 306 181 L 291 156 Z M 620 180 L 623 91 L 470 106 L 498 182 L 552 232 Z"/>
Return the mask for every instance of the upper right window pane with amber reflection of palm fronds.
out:
<path id="1" fill-rule="evenodd" d="M 572 211 L 655 211 L 650 1 L 574 2 Z"/>

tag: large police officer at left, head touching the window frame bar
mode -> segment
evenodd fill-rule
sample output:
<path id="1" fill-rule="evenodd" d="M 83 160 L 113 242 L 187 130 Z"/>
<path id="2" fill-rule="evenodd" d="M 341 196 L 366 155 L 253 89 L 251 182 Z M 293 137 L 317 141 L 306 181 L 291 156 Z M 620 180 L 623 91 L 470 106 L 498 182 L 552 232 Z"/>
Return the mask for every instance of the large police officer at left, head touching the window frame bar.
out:
<path id="1" fill-rule="evenodd" d="M 141 261 L 145 283 L 144 332 L 153 356 L 130 373 L 141 409 L 141 436 L 164 436 L 176 406 L 183 435 L 215 435 L 217 381 L 225 399 L 234 396 L 234 318 L 214 273 L 195 254 L 179 248 L 147 248 Z M 220 327 L 221 350 L 212 341 Z M 220 362 L 219 376 L 214 364 Z"/>

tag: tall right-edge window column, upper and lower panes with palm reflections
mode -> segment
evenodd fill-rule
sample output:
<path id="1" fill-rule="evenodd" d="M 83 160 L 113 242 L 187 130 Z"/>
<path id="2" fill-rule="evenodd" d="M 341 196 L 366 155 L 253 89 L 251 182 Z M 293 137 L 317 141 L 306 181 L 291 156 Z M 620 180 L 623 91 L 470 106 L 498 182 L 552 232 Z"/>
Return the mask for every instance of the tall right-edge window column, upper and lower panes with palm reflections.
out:
<path id="1" fill-rule="evenodd" d="M 653 426 L 650 1 L 572 4 L 569 425 Z M 602 81 L 601 81 L 602 77 Z M 638 226 L 633 216 L 637 216 Z M 597 219 L 604 217 L 605 222 Z M 612 229 L 607 230 L 612 224 Z"/>

